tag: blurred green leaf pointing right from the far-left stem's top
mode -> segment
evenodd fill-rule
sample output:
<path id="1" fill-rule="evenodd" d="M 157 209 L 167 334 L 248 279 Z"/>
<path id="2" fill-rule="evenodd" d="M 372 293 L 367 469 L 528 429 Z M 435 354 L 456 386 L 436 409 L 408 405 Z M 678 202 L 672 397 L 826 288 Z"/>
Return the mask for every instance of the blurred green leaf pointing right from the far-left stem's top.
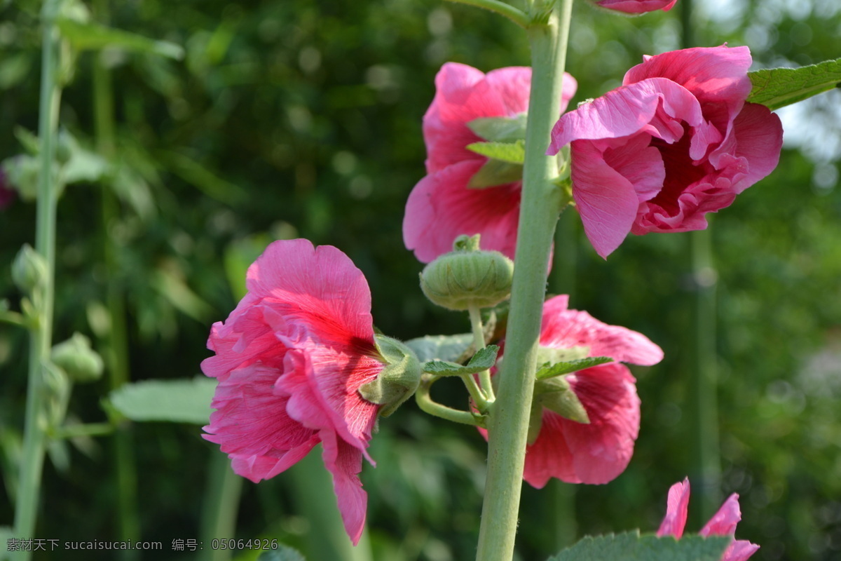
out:
<path id="1" fill-rule="evenodd" d="M 117 47 L 132 52 L 166 56 L 177 60 L 181 60 L 184 56 L 181 45 L 169 41 L 149 39 L 143 35 L 130 33 L 122 29 L 82 23 L 66 18 L 58 19 L 56 23 L 61 30 L 61 35 L 77 50 Z"/>

